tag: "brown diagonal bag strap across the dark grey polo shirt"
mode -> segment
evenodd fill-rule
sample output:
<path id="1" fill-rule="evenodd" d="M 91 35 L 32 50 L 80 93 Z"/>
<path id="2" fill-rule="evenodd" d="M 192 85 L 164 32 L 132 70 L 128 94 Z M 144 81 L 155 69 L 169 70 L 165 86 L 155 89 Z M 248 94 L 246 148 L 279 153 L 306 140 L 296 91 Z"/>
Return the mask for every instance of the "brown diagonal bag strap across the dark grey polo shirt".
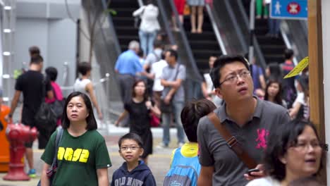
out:
<path id="1" fill-rule="evenodd" d="M 235 151 L 238 158 L 245 163 L 245 166 L 249 169 L 255 168 L 257 166 L 255 160 L 252 159 L 242 147 L 240 147 L 236 137 L 231 135 L 227 128 L 221 124 L 220 119 L 216 116 L 216 113 L 209 113 L 207 117 L 209 117 L 209 120 L 211 120 L 214 124 L 214 127 L 219 131 L 224 140 L 226 140 L 228 147 Z"/>

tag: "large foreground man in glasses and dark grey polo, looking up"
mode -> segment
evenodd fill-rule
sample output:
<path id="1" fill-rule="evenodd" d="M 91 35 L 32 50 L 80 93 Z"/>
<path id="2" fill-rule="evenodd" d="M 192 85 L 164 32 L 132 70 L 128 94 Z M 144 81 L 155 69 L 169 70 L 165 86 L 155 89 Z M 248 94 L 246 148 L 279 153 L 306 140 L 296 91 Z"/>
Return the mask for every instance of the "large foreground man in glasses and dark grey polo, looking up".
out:
<path id="1" fill-rule="evenodd" d="M 224 99 L 214 112 L 231 135 L 257 163 L 267 148 L 267 136 L 276 127 L 288 123 L 288 111 L 282 106 L 253 96 L 253 82 L 248 62 L 243 56 L 221 56 L 211 70 L 216 95 Z M 202 165 L 198 185 L 246 185 L 248 180 L 264 176 L 259 172 L 247 175 L 248 168 L 230 149 L 209 118 L 200 119 L 197 129 Z"/>

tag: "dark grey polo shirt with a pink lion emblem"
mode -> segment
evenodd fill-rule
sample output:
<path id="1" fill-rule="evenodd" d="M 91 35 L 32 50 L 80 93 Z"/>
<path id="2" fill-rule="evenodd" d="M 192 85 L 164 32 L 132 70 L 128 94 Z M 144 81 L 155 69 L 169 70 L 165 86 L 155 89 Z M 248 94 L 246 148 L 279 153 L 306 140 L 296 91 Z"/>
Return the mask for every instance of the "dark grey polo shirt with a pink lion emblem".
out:
<path id="1" fill-rule="evenodd" d="M 214 112 L 220 118 L 222 125 L 236 137 L 240 147 L 247 151 L 252 159 L 261 163 L 264 149 L 267 147 L 267 137 L 279 125 L 288 123 L 291 119 L 288 111 L 277 104 L 257 99 L 257 107 L 251 120 L 240 127 L 226 114 L 226 104 Z M 214 124 L 204 116 L 200 119 L 197 129 L 199 144 L 199 161 L 202 166 L 214 166 L 213 185 L 246 185 L 244 174 L 248 168 L 226 144 L 226 140 L 214 128 Z"/>

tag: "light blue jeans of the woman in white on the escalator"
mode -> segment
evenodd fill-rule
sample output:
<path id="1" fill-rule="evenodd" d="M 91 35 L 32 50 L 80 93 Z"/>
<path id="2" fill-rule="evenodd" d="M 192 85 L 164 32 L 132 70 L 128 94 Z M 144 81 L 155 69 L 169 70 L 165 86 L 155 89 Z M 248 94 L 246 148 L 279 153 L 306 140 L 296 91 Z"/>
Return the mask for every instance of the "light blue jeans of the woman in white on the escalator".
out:
<path id="1" fill-rule="evenodd" d="M 143 32 L 139 30 L 140 44 L 143 50 L 143 54 L 147 56 L 154 50 L 154 39 L 156 39 L 157 31 Z"/>

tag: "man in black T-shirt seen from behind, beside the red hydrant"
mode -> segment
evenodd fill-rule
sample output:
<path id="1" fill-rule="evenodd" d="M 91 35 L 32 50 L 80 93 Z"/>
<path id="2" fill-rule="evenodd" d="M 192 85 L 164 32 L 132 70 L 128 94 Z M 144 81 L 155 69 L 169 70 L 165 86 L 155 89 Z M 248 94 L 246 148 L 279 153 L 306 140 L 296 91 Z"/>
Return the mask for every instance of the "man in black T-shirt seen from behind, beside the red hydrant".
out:
<path id="1" fill-rule="evenodd" d="M 49 82 L 44 81 L 44 75 L 42 75 L 43 58 L 42 56 L 32 56 L 30 61 L 30 69 L 23 73 L 16 80 L 15 89 L 16 92 L 11 101 L 11 111 L 7 116 L 7 120 L 13 118 L 13 113 L 18 104 L 18 99 L 20 98 L 20 93 L 23 92 L 23 111 L 22 111 L 22 123 L 24 125 L 35 127 L 35 114 L 37 113 L 39 106 L 42 104 L 42 99 L 46 95 L 43 95 L 44 89 L 46 89 L 47 97 L 53 99 L 54 94 L 51 91 L 51 85 Z M 46 87 L 45 87 L 46 86 Z M 42 145 L 40 136 L 38 137 L 39 149 Z M 27 163 L 30 167 L 28 175 L 31 178 L 35 178 L 35 168 L 33 165 L 33 142 L 25 144 L 26 147 L 26 158 Z"/>

